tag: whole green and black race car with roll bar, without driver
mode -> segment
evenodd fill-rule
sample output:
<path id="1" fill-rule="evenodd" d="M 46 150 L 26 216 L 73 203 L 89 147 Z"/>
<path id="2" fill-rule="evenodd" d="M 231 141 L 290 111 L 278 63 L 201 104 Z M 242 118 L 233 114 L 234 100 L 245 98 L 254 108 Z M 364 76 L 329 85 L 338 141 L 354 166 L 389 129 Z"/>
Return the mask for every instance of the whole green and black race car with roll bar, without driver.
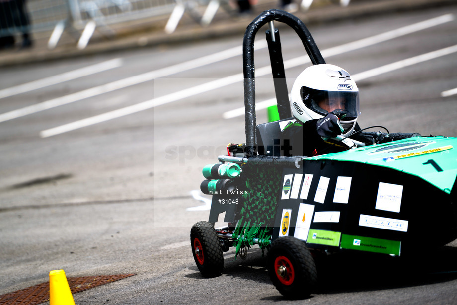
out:
<path id="1" fill-rule="evenodd" d="M 203 169 L 201 190 L 213 195 L 210 215 L 190 232 L 202 275 L 219 275 L 223 252 L 231 247 L 243 257 L 257 244 L 268 250 L 267 268 L 279 292 L 306 298 L 316 289 L 318 253 L 401 256 L 424 241 L 439 247 L 455 240 L 457 138 L 361 132 L 361 143 L 338 139 L 347 146 L 338 153 L 275 153 L 277 135 L 291 114 L 273 21 L 297 32 L 314 65 L 325 63 L 305 25 L 287 12 L 265 11 L 248 26 L 243 42 L 246 143 L 229 145 L 228 155 Z M 253 42 L 265 24 L 270 25 L 266 37 L 279 120 L 257 125 Z M 214 228 L 223 212 L 228 225 Z"/>

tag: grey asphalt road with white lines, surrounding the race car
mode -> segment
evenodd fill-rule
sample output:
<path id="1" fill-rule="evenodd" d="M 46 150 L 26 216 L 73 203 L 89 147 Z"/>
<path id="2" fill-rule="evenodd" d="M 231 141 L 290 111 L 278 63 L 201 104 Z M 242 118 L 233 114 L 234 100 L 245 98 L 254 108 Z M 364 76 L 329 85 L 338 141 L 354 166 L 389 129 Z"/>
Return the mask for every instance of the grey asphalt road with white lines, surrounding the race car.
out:
<path id="1" fill-rule="evenodd" d="M 456 137 L 456 18 L 450 6 L 309 30 L 326 62 L 357 81 L 362 127 Z M 291 88 L 310 63 L 295 33 L 280 32 Z M 283 300 L 258 247 L 246 260 L 225 253 L 217 278 L 200 275 L 189 232 L 209 214 L 209 198 L 194 192 L 201 169 L 245 141 L 241 44 L 230 37 L 0 71 L 0 295 L 64 269 L 137 274 L 74 294 L 76 304 L 457 303 L 457 242 L 429 249 L 424 240 L 407 261 L 330 257 L 304 301 Z M 255 64 L 262 123 L 261 102 L 274 97 L 262 31 Z"/>

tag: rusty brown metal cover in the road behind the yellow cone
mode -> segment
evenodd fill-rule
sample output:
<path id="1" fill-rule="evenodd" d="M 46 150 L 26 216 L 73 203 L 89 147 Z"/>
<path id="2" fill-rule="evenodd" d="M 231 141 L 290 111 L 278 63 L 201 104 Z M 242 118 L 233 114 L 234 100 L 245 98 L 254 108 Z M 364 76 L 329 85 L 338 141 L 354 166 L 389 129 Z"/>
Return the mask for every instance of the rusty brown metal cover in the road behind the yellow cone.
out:
<path id="1" fill-rule="evenodd" d="M 67 278 L 72 294 L 92 287 L 128 278 L 135 274 L 97 275 Z M 49 300 L 49 282 L 0 296 L 0 304 L 32 305 Z"/>

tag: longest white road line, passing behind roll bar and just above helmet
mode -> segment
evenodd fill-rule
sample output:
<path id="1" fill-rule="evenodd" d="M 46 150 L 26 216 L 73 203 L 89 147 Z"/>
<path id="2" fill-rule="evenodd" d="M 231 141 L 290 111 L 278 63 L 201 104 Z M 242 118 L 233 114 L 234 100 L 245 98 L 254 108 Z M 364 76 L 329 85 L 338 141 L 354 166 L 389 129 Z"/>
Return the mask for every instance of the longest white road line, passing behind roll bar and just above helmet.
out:
<path id="1" fill-rule="evenodd" d="M 342 54 L 342 53 L 353 51 L 353 50 L 356 50 L 359 48 L 367 47 L 367 46 L 370 46 L 373 44 L 384 42 L 389 39 L 398 38 L 403 35 L 410 34 L 415 31 L 423 30 L 425 28 L 429 28 L 429 27 L 436 26 L 439 24 L 443 24 L 443 23 L 446 23 L 446 22 L 449 22 L 452 20 L 454 20 L 454 15 L 446 14 L 446 15 L 443 15 L 440 17 L 436 17 L 436 18 L 432 18 L 432 19 L 429 19 L 426 21 L 408 25 L 408 26 L 405 26 L 405 27 L 402 27 L 402 28 L 399 28 L 396 30 L 388 31 L 388 32 L 385 32 L 385 33 L 382 33 L 379 35 L 369 37 L 369 38 L 357 40 L 355 42 L 351 42 L 351 43 L 337 46 L 334 48 L 326 49 L 321 53 L 324 58 L 333 56 L 336 54 Z M 288 68 L 303 65 L 306 62 L 309 62 L 309 58 L 307 55 L 285 61 L 284 67 L 285 67 L 285 69 L 288 69 Z M 257 76 L 257 77 L 264 76 L 269 73 L 271 73 L 271 67 L 266 66 L 266 67 L 262 67 L 260 69 L 256 69 L 255 76 Z M 224 78 L 221 78 L 218 80 L 210 81 L 205 84 L 201 84 L 201 85 L 189 88 L 189 89 L 174 92 L 174 93 L 164 95 L 161 97 L 153 98 L 151 100 L 141 102 L 141 103 L 138 103 L 138 104 L 135 104 L 132 106 L 127 106 L 127 107 L 117 109 L 114 111 L 110 111 L 110 112 L 107 112 L 104 114 L 96 115 L 96 116 L 82 119 L 79 121 L 75 121 L 75 122 L 72 122 L 69 124 L 64 124 L 64 125 L 61 125 L 58 127 L 43 130 L 40 132 L 40 137 L 46 138 L 46 137 L 55 136 L 55 135 L 69 132 L 72 130 L 76 130 L 76 129 L 79 129 L 82 127 L 87 127 L 90 125 L 98 124 L 101 122 L 105 122 L 108 120 L 112 120 L 115 118 L 129 115 L 129 114 L 133 114 L 133 113 L 136 113 L 139 111 L 151 109 L 151 108 L 154 108 L 159 105 L 171 103 L 171 102 L 174 102 L 174 101 L 186 98 L 186 97 L 194 96 L 196 94 L 200 94 L 200 93 L 204 93 L 204 92 L 207 92 L 210 90 L 221 88 L 223 86 L 227 86 L 229 84 L 233 84 L 235 82 L 241 81 L 242 79 L 243 79 L 243 74 L 241 73 L 241 74 L 236 74 L 233 76 L 224 77 Z"/>

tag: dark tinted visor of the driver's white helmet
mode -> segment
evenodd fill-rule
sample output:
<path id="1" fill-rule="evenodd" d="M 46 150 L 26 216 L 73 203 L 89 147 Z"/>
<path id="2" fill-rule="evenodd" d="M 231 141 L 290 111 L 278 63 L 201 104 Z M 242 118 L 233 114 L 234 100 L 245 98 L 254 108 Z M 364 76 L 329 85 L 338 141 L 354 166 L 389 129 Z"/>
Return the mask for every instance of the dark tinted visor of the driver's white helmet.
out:
<path id="1" fill-rule="evenodd" d="M 345 114 L 352 120 L 359 114 L 359 92 L 323 91 L 302 87 L 302 100 L 309 109 L 326 116 L 329 112 Z"/>

